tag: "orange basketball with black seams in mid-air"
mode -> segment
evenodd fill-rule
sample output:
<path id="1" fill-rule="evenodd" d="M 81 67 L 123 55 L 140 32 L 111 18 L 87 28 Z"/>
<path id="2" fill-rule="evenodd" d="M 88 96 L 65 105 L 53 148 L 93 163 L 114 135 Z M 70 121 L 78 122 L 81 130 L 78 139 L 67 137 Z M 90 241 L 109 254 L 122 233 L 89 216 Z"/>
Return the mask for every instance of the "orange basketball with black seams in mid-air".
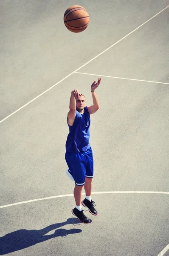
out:
<path id="1" fill-rule="evenodd" d="M 89 14 L 82 6 L 70 6 L 64 13 L 64 23 L 71 32 L 82 32 L 89 24 Z"/>

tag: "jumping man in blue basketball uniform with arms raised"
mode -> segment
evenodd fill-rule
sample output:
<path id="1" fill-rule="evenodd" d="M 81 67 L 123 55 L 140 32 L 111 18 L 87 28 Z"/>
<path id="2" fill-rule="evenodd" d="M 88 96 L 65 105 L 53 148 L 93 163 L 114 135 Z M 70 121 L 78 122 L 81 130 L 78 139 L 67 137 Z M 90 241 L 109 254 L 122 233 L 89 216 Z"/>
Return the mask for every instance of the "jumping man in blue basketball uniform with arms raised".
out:
<path id="1" fill-rule="evenodd" d="M 66 141 L 65 160 L 68 164 L 67 175 L 75 182 L 73 191 L 76 207 L 72 209 L 79 221 L 89 223 L 90 220 L 82 210 L 81 202 L 87 207 L 89 212 L 97 215 L 94 208 L 96 205 L 91 198 L 92 178 L 93 178 L 93 153 L 89 143 L 90 139 L 90 114 L 96 113 L 99 109 L 99 99 L 96 95 L 96 88 L 101 79 L 94 81 L 91 85 L 93 105 L 85 106 L 85 96 L 78 90 L 73 90 L 70 96 L 68 112 L 69 134 Z M 85 189 L 85 200 L 82 201 L 82 189 Z"/>

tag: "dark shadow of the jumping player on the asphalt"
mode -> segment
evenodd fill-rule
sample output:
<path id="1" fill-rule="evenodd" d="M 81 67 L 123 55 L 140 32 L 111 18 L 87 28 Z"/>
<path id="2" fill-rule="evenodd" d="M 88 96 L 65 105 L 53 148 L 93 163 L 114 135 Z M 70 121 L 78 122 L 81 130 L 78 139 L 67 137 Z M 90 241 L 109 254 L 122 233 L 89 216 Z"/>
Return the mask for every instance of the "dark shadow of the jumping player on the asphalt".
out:
<path id="1" fill-rule="evenodd" d="M 62 223 L 52 224 L 41 230 L 17 230 L 12 233 L 8 233 L 5 236 L 0 237 L 0 255 L 12 253 L 17 250 L 22 250 L 34 244 L 41 243 L 57 236 L 66 237 L 70 234 L 81 233 L 81 229 L 66 230 L 60 228 L 68 224 L 79 224 L 77 218 L 68 218 L 67 221 Z M 59 229 L 58 229 L 59 228 Z M 57 229 L 57 230 L 55 230 Z M 48 232 L 55 230 L 53 234 L 45 235 Z"/>

